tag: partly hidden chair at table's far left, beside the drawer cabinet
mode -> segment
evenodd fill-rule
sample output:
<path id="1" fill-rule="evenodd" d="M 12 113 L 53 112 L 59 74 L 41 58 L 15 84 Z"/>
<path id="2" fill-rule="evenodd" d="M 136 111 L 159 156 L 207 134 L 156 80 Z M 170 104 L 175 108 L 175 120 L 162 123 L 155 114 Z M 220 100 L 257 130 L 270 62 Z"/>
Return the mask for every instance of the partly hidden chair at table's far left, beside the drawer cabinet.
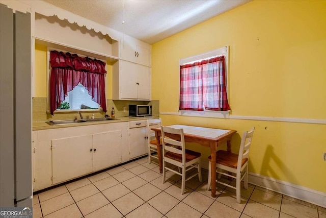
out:
<path id="1" fill-rule="evenodd" d="M 162 125 L 161 118 L 158 119 L 147 119 L 147 141 L 148 141 L 148 163 L 152 162 L 152 158 L 158 160 L 157 154 L 153 155 L 153 153 L 157 152 L 157 143 L 155 138 L 155 132 L 151 130 L 151 128 L 160 127 Z M 162 145 L 162 142 L 160 141 Z"/>

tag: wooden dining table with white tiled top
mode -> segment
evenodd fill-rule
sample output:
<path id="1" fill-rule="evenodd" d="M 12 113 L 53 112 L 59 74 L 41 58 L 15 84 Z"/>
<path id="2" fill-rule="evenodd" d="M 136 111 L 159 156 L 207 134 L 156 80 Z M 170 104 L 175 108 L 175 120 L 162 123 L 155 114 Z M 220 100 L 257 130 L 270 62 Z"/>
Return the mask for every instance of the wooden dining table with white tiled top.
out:
<path id="1" fill-rule="evenodd" d="M 204 147 L 210 148 L 211 156 L 211 168 L 216 168 L 216 151 L 218 145 L 221 142 L 227 142 L 227 151 L 231 152 L 231 137 L 236 133 L 236 130 L 224 130 L 224 129 L 215 129 L 215 128 L 205 128 L 205 127 L 196 127 L 196 126 L 186 126 L 186 125 L 171 125 L 167 127 L 172 127 L 175 129 L 183 129 L 184 140 L 186 142 L 196 142 L 201 144 Z M 159 172 L 162 173 L 162 150 L 160 145 L 161 129 L 160 128 L 151 128 L 155 131 L 156 143 L 157 143 L 157 154 L 158 154 L 158 164 Z M 173 135 L 168 137 L 173 138 Z M 211 171 L 211 196 L 216 198 L 216 171 Z"/>

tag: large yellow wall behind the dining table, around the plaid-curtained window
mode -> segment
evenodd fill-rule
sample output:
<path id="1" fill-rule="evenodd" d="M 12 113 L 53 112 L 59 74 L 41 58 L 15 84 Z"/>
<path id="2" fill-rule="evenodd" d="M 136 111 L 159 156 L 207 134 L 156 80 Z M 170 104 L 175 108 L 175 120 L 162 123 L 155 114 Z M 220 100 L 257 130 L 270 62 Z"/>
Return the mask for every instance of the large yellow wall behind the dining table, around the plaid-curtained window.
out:
<path id="1" fill-rule="evenodd" d="M 326 1 L 253 1 L 153 44 L 152 96 L 160 112 L 178 111 L 180 58 L 229 45 L 231 115 L 326 119 L 325 14 Z M 326 192 L 326 125 L 161 117 L 164 125 L 240 135 L 255 126 L 251 172 Z"/>

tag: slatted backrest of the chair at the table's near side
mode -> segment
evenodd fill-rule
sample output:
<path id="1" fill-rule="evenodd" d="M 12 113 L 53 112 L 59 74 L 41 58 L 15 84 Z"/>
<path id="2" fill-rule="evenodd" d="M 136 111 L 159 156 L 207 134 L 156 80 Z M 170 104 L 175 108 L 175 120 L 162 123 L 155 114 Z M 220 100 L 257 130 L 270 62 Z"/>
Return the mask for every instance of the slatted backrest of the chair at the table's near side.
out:
<path id="1" fill-rule="evenodd" d="M 185 163 L 185 143 L 183 129 L 174 129 L 161 126 L 163 156 L 167 151 L 182 155 L 182 163 Z"/>

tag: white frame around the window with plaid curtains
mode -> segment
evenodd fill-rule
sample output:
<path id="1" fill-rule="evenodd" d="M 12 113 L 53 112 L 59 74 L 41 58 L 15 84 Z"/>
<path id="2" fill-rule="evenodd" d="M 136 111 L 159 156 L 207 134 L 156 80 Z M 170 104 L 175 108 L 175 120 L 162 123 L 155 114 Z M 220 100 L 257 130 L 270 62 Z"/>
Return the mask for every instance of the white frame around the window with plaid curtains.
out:
<path id="1" fill-rule="evenodd" d="M 207 60 L 213 57 L 224 56 L 225 64 L 226 64 L 226 91 L 228 96 L 228 101 L 230 102 L 229 96 L 229 46 L 226 45 L 221 47 L 220 49 L 215 49 L 206 53 L 202 53 L 199 55 L 182 58 L 179 60 L 179 65 L 191 64 L 194 62 Z M 179 84 L 180 84 L 180 76 L 179 76 Z M 179 87 L 180 90 L 180 87 Z M 179 94 L 179 103 L 180 103 L 180 94 Z M 179 114 L 182 116 L 200 116 L 200 117 L 216 117 L 216 118 L 229 118 L 228 111 L 211 111 L 211 110 L 203 110 L 203 111 L 191 111 L 191 110 L 179 110 Z"/>

